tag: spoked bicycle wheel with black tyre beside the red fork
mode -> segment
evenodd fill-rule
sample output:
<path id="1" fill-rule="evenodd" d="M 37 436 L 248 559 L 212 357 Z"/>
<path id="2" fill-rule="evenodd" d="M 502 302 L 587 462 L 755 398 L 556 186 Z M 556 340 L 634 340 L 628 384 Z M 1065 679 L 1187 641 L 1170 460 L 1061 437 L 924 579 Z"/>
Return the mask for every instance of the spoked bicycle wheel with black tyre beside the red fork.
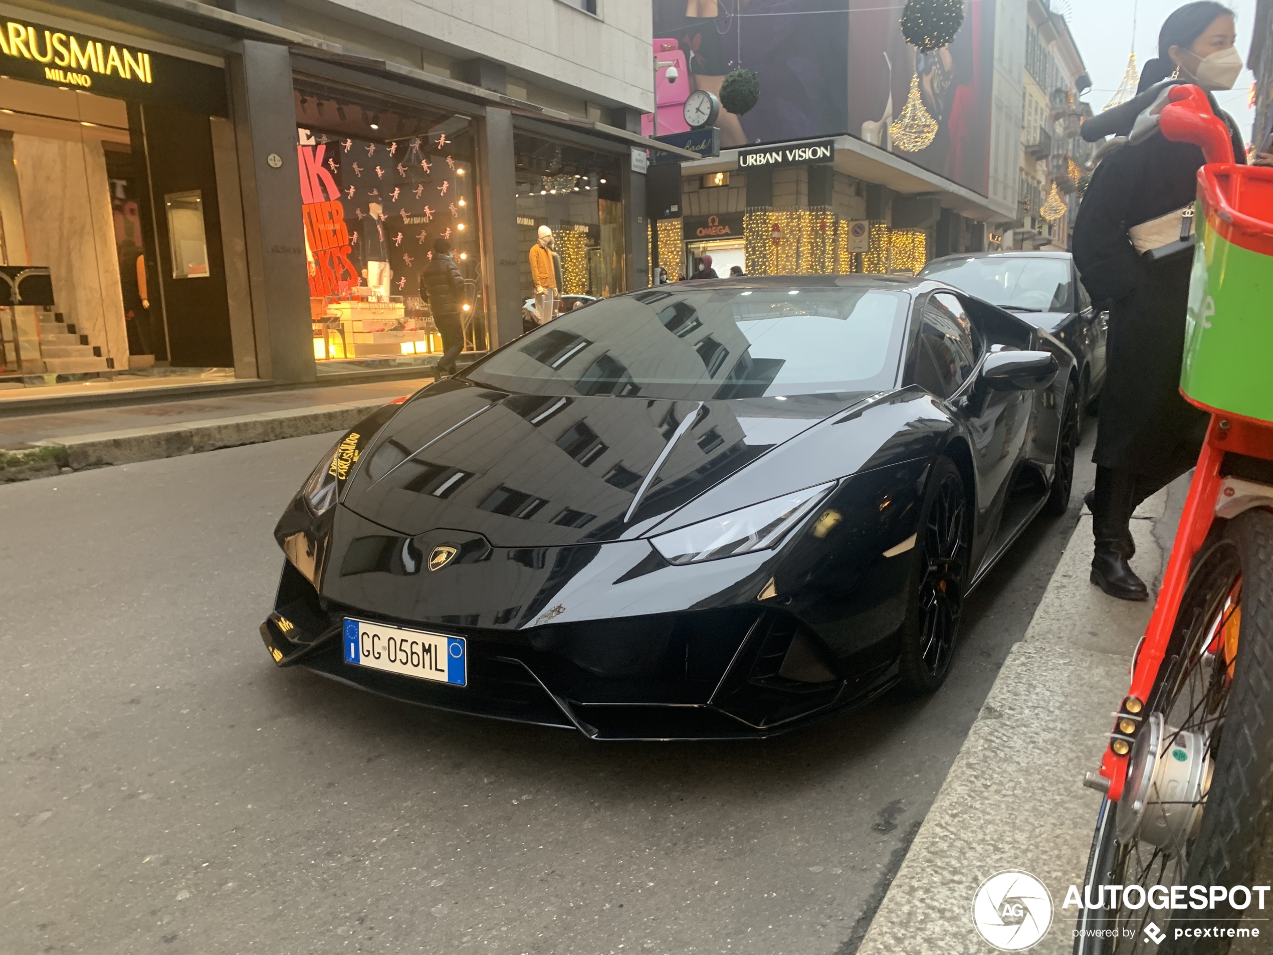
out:
<path id="1" fill-rule="evenodd" d="M 1241 514 L 1203 545 L 1144 714 L 1123 798 L 1102 806 L 1087 881 L 1249 885 L 1273 786 L 1273 514 Z M 1175 940 L 1172 928 L 1241 917 L 1132 900 L 1120 893 L 1085 913 L 1081 928 L 1113 937 L 1086 933 L 1076 954 L 1222 955 L 1231 940 Z"/>

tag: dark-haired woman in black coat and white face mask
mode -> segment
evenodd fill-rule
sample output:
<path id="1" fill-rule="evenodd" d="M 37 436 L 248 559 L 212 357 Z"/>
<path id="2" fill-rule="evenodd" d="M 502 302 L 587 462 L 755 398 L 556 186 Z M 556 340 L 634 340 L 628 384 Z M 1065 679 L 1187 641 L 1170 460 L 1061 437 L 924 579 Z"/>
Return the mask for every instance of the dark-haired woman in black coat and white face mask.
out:
<path id="1" fill-rule="evenodd" d="M 1228 8 L 1209 0 L 1179 8 L 1162 24 L 1158 59 L 1144 65 L 1138 93 L 1169 78 L 1212 90 L 1232 87 L 1234 39 Z M 1088 120 L 1085 139 L 1129 132 L 1136 113 L 1156 93 L 1138 98 L 1141 103 Z M 1242 162 L 1245 148 L 1234 120 L 1214 102 L 1212 107 L 1228 124 Z M 1088 497 L 1096 539 L 1091 579 L 1123 600 L 1148 596 L 1128 564 L 1134 553 L 1132 512 L 1193 467 L 1208 423 L 1179 391 L 1190 258 L 1178 255 L 1151 264 L 1132 246 L 1128 229 L 1192 204 L 1202 166 L 1202 149 L 1157 134 L 1116 146 L 1096 167 L 1074 222 L 1074 264 L 1092 301 L 1110 312 L 1108 377 L 1092 455 L 1096 486 Z"/>

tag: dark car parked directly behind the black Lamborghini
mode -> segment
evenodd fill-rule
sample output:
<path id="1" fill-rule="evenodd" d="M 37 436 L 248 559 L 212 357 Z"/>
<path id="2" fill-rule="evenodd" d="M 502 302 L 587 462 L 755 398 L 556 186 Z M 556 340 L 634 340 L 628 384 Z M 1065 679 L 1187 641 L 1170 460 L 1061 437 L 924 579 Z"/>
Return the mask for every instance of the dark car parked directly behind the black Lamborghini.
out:
<path id="1" fill-rule="evenodd" d="M 1109 312 L 1096 312 L 1069 252 L 979 252 L 934 258 L 920 276 L 1017 312 L 1066 343 L 1078 360 L 1078 406 L 1105 383 Z"/>

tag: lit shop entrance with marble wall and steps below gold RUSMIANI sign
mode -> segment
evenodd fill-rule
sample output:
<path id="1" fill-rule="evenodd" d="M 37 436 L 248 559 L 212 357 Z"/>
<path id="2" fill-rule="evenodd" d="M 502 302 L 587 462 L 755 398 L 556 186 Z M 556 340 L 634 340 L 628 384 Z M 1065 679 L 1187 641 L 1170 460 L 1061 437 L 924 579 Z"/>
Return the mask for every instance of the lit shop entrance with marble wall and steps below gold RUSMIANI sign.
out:
<path id="1" fill-rule="evenodd" d="M 238 205 L 224 74 L 127 55 L 154 83 L 0 76 L 0 269 L 25 275 L 0 307 L 0 399 L 236 374 L 227 275 L 246 262 L 222 242 L 223 188 Z"/>

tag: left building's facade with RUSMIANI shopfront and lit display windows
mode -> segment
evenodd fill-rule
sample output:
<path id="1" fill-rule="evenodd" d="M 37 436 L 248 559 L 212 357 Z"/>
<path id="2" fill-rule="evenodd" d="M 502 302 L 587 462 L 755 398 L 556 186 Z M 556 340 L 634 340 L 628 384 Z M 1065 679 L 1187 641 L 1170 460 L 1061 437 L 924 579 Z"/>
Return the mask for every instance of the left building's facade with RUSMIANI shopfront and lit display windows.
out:
<path id="1" fill-rule="evenodd" d="M 410 373 L 439 241 L 470 351 L 521 334 L 540 227 L 559 292 L 648 284 L 648 3 L 4 13 L 0 397 Z"/>

